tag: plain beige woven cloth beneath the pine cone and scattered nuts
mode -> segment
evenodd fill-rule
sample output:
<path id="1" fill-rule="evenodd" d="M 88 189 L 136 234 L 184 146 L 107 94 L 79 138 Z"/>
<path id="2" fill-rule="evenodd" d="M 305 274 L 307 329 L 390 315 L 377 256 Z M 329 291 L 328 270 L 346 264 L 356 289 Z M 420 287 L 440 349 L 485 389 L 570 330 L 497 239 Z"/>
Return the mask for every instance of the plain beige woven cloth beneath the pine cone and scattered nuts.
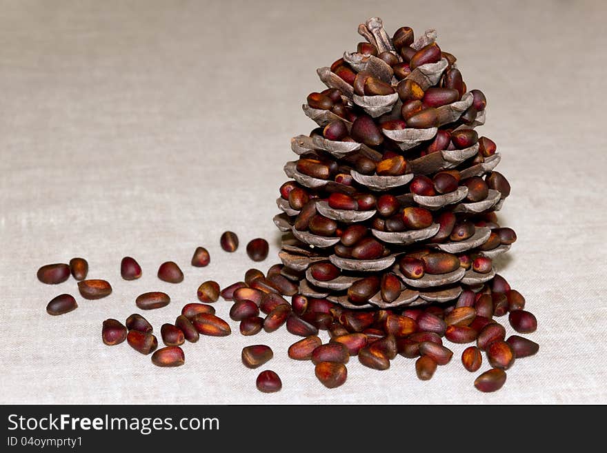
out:
<path id="1" fill-rule="evenodd" d="M 603 1 L 1 1 L 0 403 L 607 403 L 607 19 Z M 513 186 L 499 214 L 519 240 L 501 274 L 539 319 L 539 354 L 520 359 L 496 394 L 472 386 L 464 347 L 428 382 L 399 357 L 390 370 L 348 364 L 326 390 L 310 363 L 288 359 L 286 330 L 186 344 L 186 365 L 161 369 L 123 343 L 101 343 L 101 322 L 137 311 L 163 290 L 172 303 L 145 313 L 159 330 L 195 301 L 255 265 L 244 245 L 262 236 L 277 262 L 275 199 L 293 159 L 290 137 L 321 90 L 316 68 L 353 50 L 357 25 L 436 28 L 468 88 L 488 97 L 481 133 Z M 234 254 L 219 248 L 237 232 Z M 197 245 L 212 256 L 192 268 Z M 124 255 L 143 267 L 119 277 Z M 46 303 L 76 296 L 36 279 L 40 265 L 84 256 L 114 292 L 63 316 Z M 180 285 L 156 277 L 179 263 Z M 230 303 L 218 301 L 228 318 Z M 506 319 L 502 320 L 507 324 Z M 508 325 L 508 334 L 513 333 Z M 244 345 L 271 345 L 260 370 Z M 255 390 L 263 369 L 283 389 Z M 482 370 L 488 368 L 486 363 Z"/>

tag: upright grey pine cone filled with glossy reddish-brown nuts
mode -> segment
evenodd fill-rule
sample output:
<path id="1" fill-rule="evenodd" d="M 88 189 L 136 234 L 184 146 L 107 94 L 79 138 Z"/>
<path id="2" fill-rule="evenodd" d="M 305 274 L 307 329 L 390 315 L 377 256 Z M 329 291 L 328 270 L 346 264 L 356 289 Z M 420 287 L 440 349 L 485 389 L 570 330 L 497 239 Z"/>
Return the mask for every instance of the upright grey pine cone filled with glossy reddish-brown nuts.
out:
<path id="1" fill-rule="evenodd" d="M 397 308 L 457 299 L 506 284 L 492 259 L 516 234 L 495 211 L 510 193 L 501 156 L 478 137 L 486 99 L 468 92 L 435 30 L 392 39 L 381 19 L 359 26 L 357 51 L 317 72 L 328 89 L 304 112 L 275 217 L 286 232 L 283 275 L 305 296 L 346 308 Z M 487 285 L 487 286 L 486 286 Z"/>

